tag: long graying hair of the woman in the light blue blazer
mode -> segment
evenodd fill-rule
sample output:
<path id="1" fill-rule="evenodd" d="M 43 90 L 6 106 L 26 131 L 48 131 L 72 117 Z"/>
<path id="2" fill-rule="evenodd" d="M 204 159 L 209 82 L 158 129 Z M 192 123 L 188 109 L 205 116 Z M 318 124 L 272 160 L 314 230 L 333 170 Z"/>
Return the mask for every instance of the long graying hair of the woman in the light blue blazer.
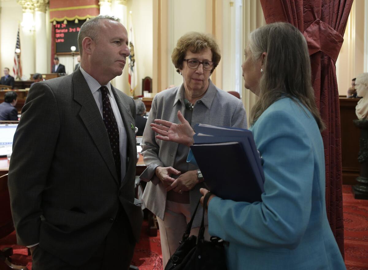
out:
<path id="1" fill-rule="evenodd" d="M 268 24 L 251 32 L 249 49 L 254 61 L 267 53 L 259 81 L 259 100 L 251 111 L 251 125 L 272 103 L 290 97 L 312 113 L 322 131 L 325 125 L 316 106 L 308 46 L 302 33 L 286 22 Z"/>

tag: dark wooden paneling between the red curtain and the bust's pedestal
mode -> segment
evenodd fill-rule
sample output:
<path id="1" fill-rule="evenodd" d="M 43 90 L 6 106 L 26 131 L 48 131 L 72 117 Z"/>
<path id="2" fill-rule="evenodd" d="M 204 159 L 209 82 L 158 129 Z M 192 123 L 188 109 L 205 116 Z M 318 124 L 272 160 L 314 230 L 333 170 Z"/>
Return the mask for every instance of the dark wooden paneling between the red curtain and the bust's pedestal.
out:
<path id="1" fill-rule="evenodd" d="M 340 97 L 341 122 L 341 152 L 343 184 L 357 184 L 355 178 L 359 176 L 360 163 L 358 162 L 360 129 L 355 127 L 353 120 L 355 106 L 359 99 Z"/>

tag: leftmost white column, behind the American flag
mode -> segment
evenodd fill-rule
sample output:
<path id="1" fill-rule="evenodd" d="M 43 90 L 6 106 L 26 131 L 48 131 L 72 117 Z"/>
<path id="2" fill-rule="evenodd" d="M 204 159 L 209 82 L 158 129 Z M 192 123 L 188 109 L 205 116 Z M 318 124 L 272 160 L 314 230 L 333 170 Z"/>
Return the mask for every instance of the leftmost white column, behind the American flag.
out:
<path id="1" fill-rule="evenodd" d="M 21 22 L 21 65 L 22 78 L 30 79 L 31 74 L 35 73 L 35 51 L 34 38 L 35 23 L 33 21 L 34 3 L 32 0 L 17 0 L 22 6 L 23 19 Z"/>

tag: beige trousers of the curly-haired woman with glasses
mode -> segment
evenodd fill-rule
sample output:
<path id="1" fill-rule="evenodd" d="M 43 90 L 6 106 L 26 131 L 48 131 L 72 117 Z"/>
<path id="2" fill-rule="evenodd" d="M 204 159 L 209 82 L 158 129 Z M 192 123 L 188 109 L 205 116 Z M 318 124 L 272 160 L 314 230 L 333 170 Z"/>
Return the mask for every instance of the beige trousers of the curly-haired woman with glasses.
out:
<path id="1" fill-rule="evenodd" d="M 198 206 L 201 207 L 201 206 Z M 166 201 L 164 220 L 157 217 L 161 238 L 162 263 L 165 269 L 170 257 L 179 246 L 179 241 L 187 229 L 187 224 L 191 219 L 190 204 Z M 199 227 L 193 228 L 190 235 L 198 235 Z M 205 226 L 204 237 L 209 240 L 208 226 Z"/>

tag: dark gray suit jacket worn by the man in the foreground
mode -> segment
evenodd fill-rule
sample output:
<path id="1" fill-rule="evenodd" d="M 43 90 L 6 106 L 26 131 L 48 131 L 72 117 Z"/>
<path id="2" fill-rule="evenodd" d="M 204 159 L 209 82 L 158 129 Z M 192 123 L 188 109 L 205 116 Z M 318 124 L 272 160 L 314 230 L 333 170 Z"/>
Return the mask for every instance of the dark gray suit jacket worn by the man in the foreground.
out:
<path id="1" fill-rule="evenodd" d="M 112 87 L 127 132 L 127 172 L 117 178 L 100 111 L 80 70 L 29 90 L 14 136 L 9 192 L 18 243 L 39 245 L 70 263 L 84 263 L 105 239 L 119 205 L 134 238 L 135 103 Z"/>

